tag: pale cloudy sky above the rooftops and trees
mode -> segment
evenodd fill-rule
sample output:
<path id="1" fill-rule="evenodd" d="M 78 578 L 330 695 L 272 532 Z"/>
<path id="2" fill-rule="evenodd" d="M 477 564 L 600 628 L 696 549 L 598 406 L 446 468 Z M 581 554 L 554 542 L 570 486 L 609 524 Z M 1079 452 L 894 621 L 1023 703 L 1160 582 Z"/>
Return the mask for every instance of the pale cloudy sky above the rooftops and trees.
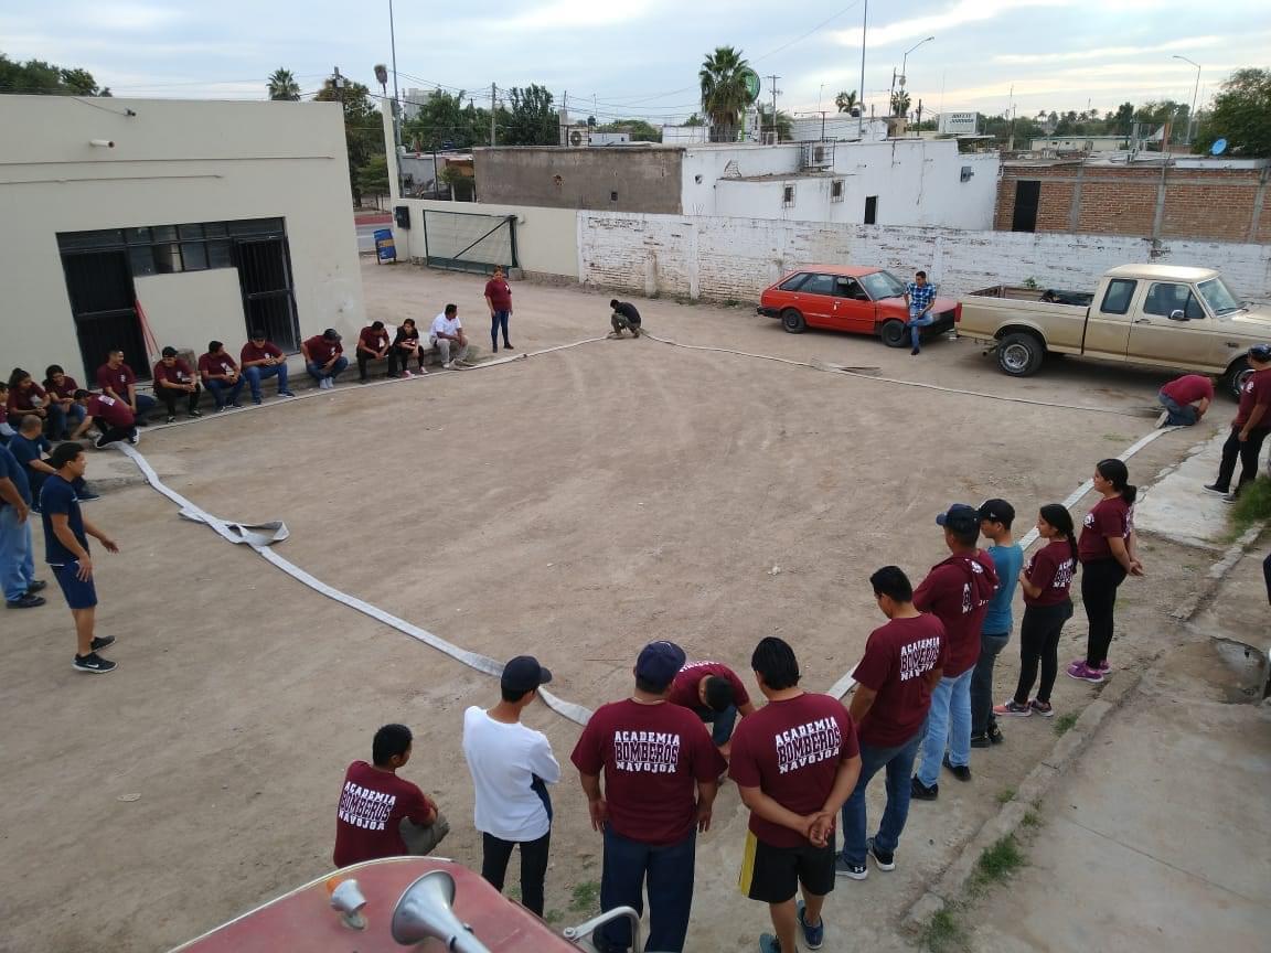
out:
<path id="1" fill-rule="evenodd" d="M 479 9 L 397 0 L 398 85 L 451 91 L 539 83 L 572 116 L 677 122 L 698 108 L 697 72 L 717 46 L 742 51 L 770 102 L 834 111 L 860 86 L 867 0 L 486 0 Z M 445 13 L 438 13 L 444 10 Z M 934 37 L 923 42 L 927 37 Z M 1200 105 L 1242 66 L 1271 57 L 1266 0 L 874 0 L 864 102 L 886 111 L 906 51 L 907 88 L 924 112 L 1021 116 L 1115 109 L 1130 100 Z M 116 95 L 264 98 L 290 69 L 305 93 L 334 67 L 377 91 L 390 64 L 389 0 L 0 0 L 0 52 L 79 66 Z M 393 89 L 389 80 L 389 91 Z M 1013 94 L 1012 94 L 1013 89 Z"/>

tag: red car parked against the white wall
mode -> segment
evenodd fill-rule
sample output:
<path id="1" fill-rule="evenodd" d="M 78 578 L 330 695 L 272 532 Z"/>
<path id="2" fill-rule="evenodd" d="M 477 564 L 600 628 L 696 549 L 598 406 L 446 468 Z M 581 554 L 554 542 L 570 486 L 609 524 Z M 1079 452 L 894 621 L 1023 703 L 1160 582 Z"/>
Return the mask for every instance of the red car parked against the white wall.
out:
<path id="1" fill-rule="evenodd" d="M 811 264 L 765 288 L 758 310 L 780 318 L 791 334 L 802 334 L 808 328 L 850 330 L 874 334 L 887 347 L 909 347 L 905 287 L 905 282 L 882 268 Z M 932 306 L 935 320 L 923 329 L 923 337 L 952 330 L 958 311 L 953 299 L 937 297 Z"/>

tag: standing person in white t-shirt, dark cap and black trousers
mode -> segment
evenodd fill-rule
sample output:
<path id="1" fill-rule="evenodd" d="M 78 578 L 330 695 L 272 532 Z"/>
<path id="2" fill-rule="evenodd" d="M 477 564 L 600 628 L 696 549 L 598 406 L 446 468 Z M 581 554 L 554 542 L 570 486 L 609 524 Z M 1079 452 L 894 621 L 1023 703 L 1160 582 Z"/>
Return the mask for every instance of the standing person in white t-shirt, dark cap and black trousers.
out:
<path id="1" fill-rule="evenodd" d="M 552 672 L 517 656 L 500 676 L 500 701 L 464 712 L 464 757 L 473 776 L 473 823 L 482 836 L 480 875 L 503 891 L 507 862 L 521 849 L 521 902 L 543 916 L 543 884 L 552 848 L 552 798 L 561 765 L 543 732 L 521 724 Z"/>

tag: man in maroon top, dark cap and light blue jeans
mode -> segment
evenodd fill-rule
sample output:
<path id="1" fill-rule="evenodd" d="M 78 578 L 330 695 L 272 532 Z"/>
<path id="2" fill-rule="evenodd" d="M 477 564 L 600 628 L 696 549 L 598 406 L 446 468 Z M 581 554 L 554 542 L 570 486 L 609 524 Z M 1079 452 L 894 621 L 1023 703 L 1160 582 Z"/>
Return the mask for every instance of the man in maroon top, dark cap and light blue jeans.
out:
<path id="1" fill-rule="evenodd" d="M 944 675 L 932 693 L 923 764 L 911 785 L 911 795 L 919 801 L 939 795 L 942 760 L 960 781 L 971 780 L 971 677 L 980 658 L 980 629 L 989 600 L 998 591 L 993 559 L 976 548 L 980 511 L 955 503 L 935 522 L 944 527 L 944 545 L 952 555 L 932 567 L 914 592 L 914 605 L 944 624 L 948 657 Z"/>

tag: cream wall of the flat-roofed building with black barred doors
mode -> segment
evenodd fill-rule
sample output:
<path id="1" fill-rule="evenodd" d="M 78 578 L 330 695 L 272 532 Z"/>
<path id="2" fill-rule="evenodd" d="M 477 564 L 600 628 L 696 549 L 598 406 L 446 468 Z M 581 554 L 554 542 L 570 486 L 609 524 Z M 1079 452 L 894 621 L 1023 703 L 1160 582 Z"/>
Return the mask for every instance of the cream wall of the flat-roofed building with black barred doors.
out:
<path id="1" fill-rule="evenodd" d="M 128 116 L 127 111 L 135 113 Z M 81 377 L 57 233 L 278 217 L 301 337 L 364 321 L 339 107 L 0 97 L 0 319 L 4 360 Z M 113 149 L 89 145 L 114 141 Z M 161 342 L 245 338 L 235 269 L 139 278 Z M 188 294 L 187 294 L 188 291 Z"/>

